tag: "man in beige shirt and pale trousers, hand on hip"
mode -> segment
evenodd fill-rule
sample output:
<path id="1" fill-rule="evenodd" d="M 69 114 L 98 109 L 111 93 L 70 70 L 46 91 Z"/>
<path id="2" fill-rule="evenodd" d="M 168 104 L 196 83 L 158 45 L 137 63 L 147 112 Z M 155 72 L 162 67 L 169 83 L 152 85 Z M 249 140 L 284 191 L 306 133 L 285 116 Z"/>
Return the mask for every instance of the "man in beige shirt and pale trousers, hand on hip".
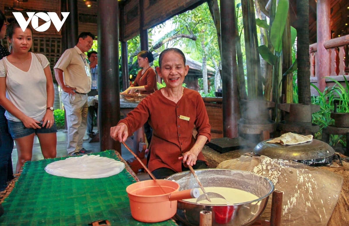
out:
<path id="1" fill-rule="evenodd" d="M 91 49 L 95 36 L 82 32 L 76 46 L 65 50 L 54 66 L 54 75 L 67 115 L 68 155 L 83 155 L 92 151 L 82 148 L 87 127 L 87 93 L 91 90 L 91 73 L 84 52 Z"/>

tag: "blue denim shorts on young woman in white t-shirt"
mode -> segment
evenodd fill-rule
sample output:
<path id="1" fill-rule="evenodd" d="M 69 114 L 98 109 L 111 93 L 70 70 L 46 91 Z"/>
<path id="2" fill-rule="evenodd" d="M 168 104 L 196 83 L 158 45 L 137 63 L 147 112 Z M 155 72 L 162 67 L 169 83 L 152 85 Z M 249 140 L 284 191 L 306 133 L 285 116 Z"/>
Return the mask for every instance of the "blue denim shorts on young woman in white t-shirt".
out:
<path id="1" fill-rule="evenodd" d="M 7 120 L 8 131 L 10 132 L 13 139 L 28 136 L 30 134 L 37 133 L 57 133 L 56 123 L 53 123 L 51 128 L 41 127 L 40 129 L 25 128 L 22 122 L 14 122 Z"/>

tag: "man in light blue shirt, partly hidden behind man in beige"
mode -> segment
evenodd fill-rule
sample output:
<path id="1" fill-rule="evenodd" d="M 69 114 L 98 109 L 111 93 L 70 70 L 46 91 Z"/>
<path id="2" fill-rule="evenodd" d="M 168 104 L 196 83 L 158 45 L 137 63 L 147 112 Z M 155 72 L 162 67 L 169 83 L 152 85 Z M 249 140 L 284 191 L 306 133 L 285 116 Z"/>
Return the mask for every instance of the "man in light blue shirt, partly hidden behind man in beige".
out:
<path id="1" fill-rule="evenodd" d="M 90 61 L 90 71 L 91 71 L 91 91 L 87 94 L 88 96 L 98 95 L 98 71 L 97 71 L 97 52 L 90 51 L 87 53 L 87 59 Z M 88 106 L 87 112 L 87 135 L 90 138 L 96 137 L 96 134 L 93 132 L 93 117 L 98 116 L 98 104 Z M 97 118 L 97 117 L 96 117 Z"/>

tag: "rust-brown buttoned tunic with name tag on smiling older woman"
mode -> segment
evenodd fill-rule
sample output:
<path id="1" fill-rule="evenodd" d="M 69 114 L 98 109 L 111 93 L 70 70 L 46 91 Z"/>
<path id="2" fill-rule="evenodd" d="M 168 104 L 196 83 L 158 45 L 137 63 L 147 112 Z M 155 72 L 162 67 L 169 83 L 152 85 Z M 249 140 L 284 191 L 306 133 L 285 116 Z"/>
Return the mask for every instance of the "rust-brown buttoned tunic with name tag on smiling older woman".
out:
<path id="1" fill-rule="evenodd" d="M 193 137 L 194 125 L 199 135 L 211 139 L 208 116 L 201 95 L 188 88 L 184 88 L 182 98 L 176 103 L 165 98 L 161 90 L 144 98 L 138 106 L 129 112 L 125 119 L 128 134 L 140 128 L 148 120 L 153 128 L 153 138 L 149 145 L 150 171 L 160 167 L 167 167 L 176 172 L 181 172 L 181 153 L 189 151 L 195 140 Z M 207 142 L 208 142 L 207 141 Z M 198 160 L 206 161 L 200 152 Z"/>

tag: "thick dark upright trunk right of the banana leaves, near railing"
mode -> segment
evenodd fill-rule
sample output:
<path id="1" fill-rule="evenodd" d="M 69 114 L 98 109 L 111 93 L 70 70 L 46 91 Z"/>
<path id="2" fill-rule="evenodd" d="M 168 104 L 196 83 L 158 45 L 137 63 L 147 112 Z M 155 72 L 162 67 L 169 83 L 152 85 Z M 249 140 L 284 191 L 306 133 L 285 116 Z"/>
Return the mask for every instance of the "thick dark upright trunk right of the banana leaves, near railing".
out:
<path id="1" fill-rule="evenodd" d="M 311 104 L 309 61 L 309 0 L 297 0 L 298 103 Z"/>

